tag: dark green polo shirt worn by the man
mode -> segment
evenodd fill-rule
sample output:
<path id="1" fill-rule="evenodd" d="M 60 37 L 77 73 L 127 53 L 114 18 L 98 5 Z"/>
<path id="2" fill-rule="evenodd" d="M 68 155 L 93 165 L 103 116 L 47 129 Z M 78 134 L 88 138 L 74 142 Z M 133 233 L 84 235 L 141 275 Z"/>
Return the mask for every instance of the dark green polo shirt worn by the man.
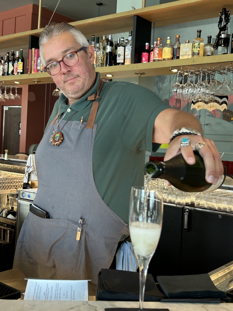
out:
<path id="1" fill-rule="evenodd" d="M 72 104 L 63 120 L 78 111 L 70 121 L 80 121 L 83 116 L 87 122 L 93 103 L 87 97 L 96 94 L 99 79 L 97 73 L 94 87 Z M 103 201 L 129 223 L 130 188 L 144 184 L 145 151 L 153 153 L 160 146 L 152 143 L 155 118 L 171 107 L 147 88 L 128 82 L 103 82 L 100 97 L 92 160 L 94 181 Z M 62 94 L 55 103 L 46 129 L 65 98 Z M 64 101 L 60 113 L 67 108 Z"/>

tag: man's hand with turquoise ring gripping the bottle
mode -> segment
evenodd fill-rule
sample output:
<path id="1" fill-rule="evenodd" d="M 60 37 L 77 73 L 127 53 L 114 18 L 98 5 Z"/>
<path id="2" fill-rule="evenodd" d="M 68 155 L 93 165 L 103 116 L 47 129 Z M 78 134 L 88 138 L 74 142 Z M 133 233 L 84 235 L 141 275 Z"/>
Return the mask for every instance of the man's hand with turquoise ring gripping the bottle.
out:
<path id="1" fill-rule="evenodd" d="M 190 140 L 191 146 L 182 146 L 180 147 L 181 139 L 187 137 Z M 217 148 L 214 142 L 208 138 L 204 138 L 199 135 L 180 135 L 174 138 L 167 148 L 164 161 L 170 160 L 179 153 L 182 153 L 185 161 L 192 165 L 195 164 L 195 157 L 193 149 L 198 142 L 206 142 L 207 145 L 204 145 L 200 150 L 199 154 L 202 156 L 205 164 L 205 179 L 208 183 L 216 184 L 218 179 L 222 178 L 223 175 L 223 165 L 222 160 L 219 156 Z"/>

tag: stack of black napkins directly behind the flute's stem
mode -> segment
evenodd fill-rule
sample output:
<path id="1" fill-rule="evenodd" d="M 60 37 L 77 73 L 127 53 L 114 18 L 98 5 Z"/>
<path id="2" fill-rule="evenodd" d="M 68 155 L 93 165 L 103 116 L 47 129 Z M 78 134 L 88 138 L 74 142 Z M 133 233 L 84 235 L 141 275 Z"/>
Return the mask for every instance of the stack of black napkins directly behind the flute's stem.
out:
<path id="1" fill-rule="evenodd" d="M 147 275 L 144 301 L 160 301 L 161 293 L 151 274 Z M 98 274 L 98 300 L 139 301 L 139 273 L 101 269 Z"/>

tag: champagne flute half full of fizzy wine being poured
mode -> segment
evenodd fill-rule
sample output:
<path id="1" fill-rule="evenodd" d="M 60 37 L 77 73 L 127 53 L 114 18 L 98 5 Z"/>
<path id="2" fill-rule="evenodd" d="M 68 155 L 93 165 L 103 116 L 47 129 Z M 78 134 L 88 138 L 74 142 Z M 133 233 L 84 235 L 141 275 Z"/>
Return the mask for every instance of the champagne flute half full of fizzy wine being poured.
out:
<path id="1" fill-rule="evenodd" d="M 158 245 L 163 216 L 162 191 L 146 189 L 132 187 L 130 194 L 130 238 L 139 261 L 139 311 L 143 310 L 148 265 Z"/>

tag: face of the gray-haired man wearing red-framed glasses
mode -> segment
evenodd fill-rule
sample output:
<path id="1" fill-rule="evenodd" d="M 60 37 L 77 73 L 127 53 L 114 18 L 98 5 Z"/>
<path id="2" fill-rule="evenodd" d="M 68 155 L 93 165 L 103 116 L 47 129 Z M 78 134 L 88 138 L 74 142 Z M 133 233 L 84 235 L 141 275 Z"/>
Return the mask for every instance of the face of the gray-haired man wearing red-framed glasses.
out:
<path id="1" fill-rule="evenodd" d="M 70 32 L 63 32 L 48 40 L 42 46 L 43 58 L 46 65 L 61 60 L 66 54 L 77 51 L 81 45 Z M 93 85 L 95 80 L 94 49 L 92 46 L 78 52 L 79 62 L 75 66 L 60 63 L 61 71 L 53 76 L 53 80 L 68 99 L 82 97 Z"/>

